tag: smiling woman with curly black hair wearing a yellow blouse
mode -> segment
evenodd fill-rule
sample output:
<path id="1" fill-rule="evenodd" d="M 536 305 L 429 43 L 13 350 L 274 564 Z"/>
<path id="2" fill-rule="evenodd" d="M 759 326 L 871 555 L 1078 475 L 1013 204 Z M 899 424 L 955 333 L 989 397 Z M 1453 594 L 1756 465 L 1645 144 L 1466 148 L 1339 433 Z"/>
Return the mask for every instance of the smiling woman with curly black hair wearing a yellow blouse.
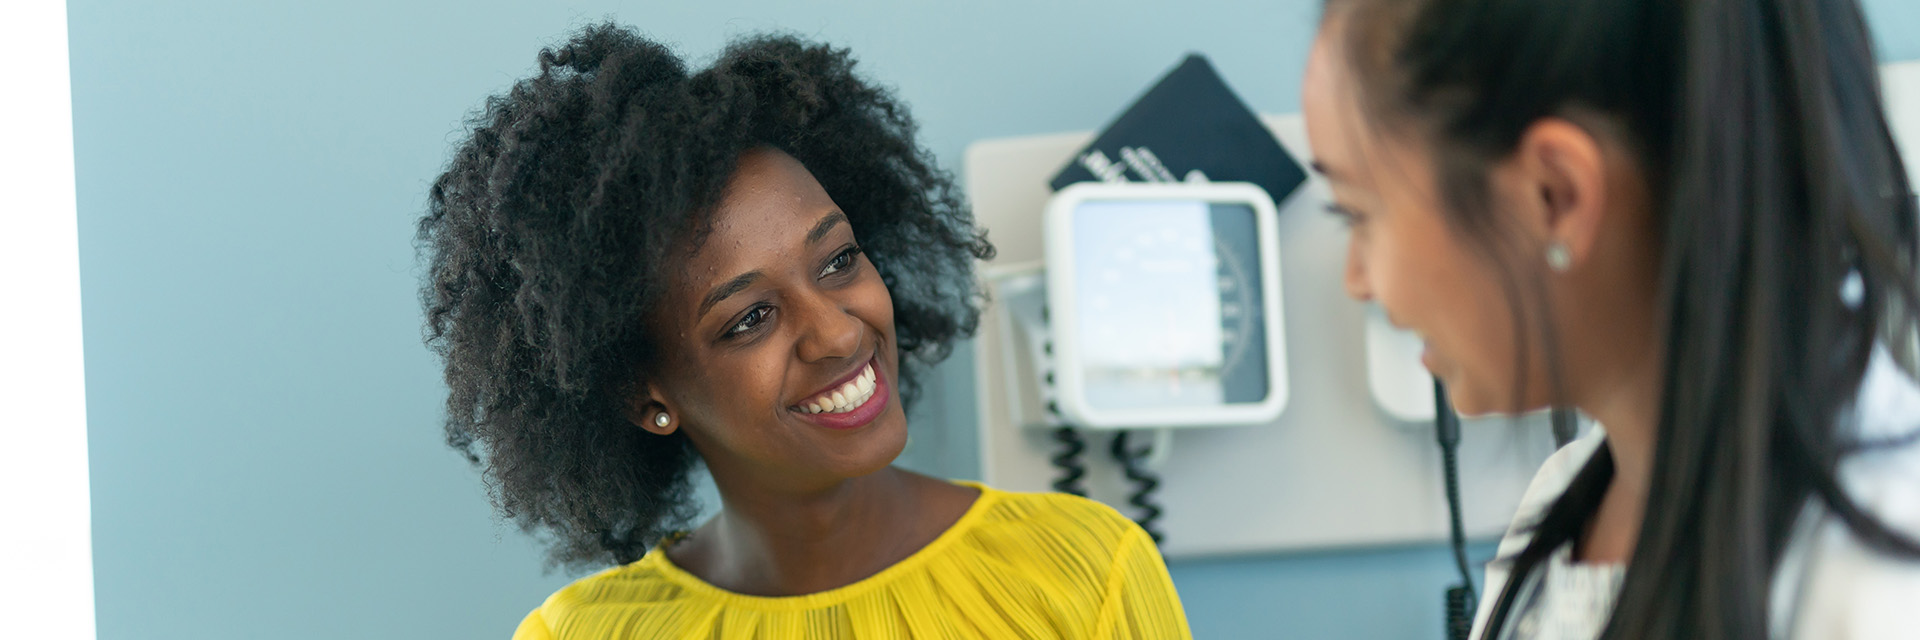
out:
<path id="1" fill-rule="evenodd" d="M 1152 540 L 891 467 L 993 248 L 843 50 L 540 56 L 434 183 L 447 440 L 566 567 L 516 638 L 1181 638 Z M 695 463 L 722 509 L 685 532 Z"/>

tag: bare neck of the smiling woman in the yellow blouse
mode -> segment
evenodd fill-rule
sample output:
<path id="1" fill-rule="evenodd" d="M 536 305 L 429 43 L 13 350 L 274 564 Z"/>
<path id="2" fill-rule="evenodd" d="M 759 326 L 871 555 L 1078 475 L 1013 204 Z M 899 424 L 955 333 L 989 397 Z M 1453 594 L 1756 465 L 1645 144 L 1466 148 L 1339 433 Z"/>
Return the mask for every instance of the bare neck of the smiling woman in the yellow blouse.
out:
<path id="1" fill-rule="evenodd" d="M 720 515 L 672 546 L 668 557 L 714 586 L 749 596 L 858 582 L 924 548 L 972 504 L 952 513 L 954 492 L 970 488 L 895 467 L 806 490 L 724 479 L 716 484 Z"/>

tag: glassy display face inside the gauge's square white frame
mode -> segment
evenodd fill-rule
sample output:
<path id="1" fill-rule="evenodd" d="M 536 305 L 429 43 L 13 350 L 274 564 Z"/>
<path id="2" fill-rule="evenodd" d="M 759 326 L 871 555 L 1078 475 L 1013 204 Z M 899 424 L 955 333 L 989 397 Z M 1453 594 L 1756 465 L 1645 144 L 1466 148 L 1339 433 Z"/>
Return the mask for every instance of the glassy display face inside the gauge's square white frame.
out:
<path id="1" fill-rule="evenodd" d="M 1077 363 L 1094 409 L 1258 404 L 1269 394 L 1254 208 L 1089 200 L 1073 215 Z"/>

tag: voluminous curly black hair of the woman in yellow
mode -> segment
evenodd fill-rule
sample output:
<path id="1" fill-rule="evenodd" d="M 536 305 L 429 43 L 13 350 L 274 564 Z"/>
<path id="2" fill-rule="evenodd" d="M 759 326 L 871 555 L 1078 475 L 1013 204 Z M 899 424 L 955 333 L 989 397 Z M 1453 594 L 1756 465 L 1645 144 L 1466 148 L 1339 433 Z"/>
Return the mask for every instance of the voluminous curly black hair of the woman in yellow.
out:
<path id="1" fill-rule="evenodd" d="M 447 444 L 549 567 L 639 559 L 697 511 L 685 436 L 626 419 L 659 346 L 666 259 L 693 252 L 741 152 L 797 158 L 893 294 L 900 394 L 979 319 L 993 256 L 914 121 L 847 50 L 735 40 L 699 73 L 630 29 L 586 27 L 486 100 L 432 186 L 426 342 L 445 363 Z"/>

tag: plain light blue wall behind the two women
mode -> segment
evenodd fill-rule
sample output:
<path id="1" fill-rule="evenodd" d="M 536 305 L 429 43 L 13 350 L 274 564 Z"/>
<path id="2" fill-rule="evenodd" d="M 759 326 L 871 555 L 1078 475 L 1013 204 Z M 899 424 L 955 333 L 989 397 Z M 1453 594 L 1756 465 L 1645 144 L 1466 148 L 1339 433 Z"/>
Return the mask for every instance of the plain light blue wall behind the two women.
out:
<path id="1" fill-rule="evenodd" d="M 100 638 L 499 638 L 564 582 L 440 444 L 411 234 L 461 115 L 568 27 L 851 46 L 958 167 L 1098 127 L 1187 50 L 1290 111 L 1315 6 L 73 0 Z M 1920 8 L 1870 8 L 1920 58 Z M 916 419 L 916 465 L 970 473 L 970 381 Z M 1202 638 L 1438 638 L 1450 573 L 1411 548 L 1173 575 Z"/>

